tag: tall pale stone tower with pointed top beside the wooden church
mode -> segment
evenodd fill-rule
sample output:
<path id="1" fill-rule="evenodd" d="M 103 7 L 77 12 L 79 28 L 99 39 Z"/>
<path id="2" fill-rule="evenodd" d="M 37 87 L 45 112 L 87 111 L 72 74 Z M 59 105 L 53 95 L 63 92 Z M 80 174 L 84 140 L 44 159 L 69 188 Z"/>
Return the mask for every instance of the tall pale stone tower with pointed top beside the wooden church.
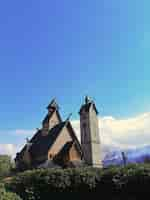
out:
<path id="1" fill-rule="evenodd" d="M 87 165 L 102 167 L 101 148 L 98 127 L 98 111 L 95 103 L 85 97 L 80 111 L 81 147 Z"/>

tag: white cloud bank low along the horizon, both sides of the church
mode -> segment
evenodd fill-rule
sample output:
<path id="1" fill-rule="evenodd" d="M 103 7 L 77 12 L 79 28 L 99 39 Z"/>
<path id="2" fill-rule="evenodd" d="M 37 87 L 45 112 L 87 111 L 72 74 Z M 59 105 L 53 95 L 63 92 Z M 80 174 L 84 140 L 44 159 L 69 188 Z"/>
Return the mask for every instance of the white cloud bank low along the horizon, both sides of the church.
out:
<path id="1" fill-rule="evenodd" d="M 80 140 L 79 120 L 73 120 L 72 126 Z M 117 119 L 112 116 L 99 118 L 100 138 L 105 148 L 131 149 L 150 145 L 150 113 L 144 113 L 128 119 Z M 13 130 L 9 135 L 19 135 L 24 144 L 25 137 L 31 137 L 35 130 Z M 6 133 L 5 133 L 6 134 Z M 18 147 L 14 144 L 0 144 L 0 154 L 15 155 Z"/>

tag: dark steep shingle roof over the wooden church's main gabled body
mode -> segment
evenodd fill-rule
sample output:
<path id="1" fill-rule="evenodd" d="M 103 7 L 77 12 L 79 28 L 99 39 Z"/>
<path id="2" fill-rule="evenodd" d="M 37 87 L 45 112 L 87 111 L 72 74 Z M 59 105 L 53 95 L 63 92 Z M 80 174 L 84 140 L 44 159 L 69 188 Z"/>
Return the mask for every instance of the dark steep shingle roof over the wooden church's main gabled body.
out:
<path id="1" fill-rule="evenodd" d="M 75 132 L 71 126 L 71 123 L 69 121 L 65 121 L 65 122 L 60 122 L 55 127 L 53 127 L 46 136 L 42 135 L 42 130 L 38 130 L 37 133 L 32 137 L 32 139 L 30 140 L 30 142 L 32 143 L 32 146 L 30 147 L 29 152 L 31 153 L 33 165 L 34 164 L 36 165 L 38 163 L 40 164 L 42 161 L 44 162 L 45 160 L 47 160 L 48 150 L 52 147 L 52 145 L 56 141 L 57 137 L 61 133 L 61 130 L 63 129 L 64 126 L 66 126 L 70 130 L 69 133 L 72 137 L 72 142 L 75 144 L 76 149 L 80 153 L 81 158 L 82 158 L 81 145 L 75 135 Z M 68 148 L 71 147 L 70 146 L 71 143 L 68 143 L 64 146 L 64 148 L 62 149 L 62 153 L 64 153 L 65 151 L 68 150 Z M 23 149 L 19 153 L 19 156 L 23 155 L 23 152 L 25 149 L 26 149 L 26 145 L 23 147 Z M 42 157 L 42 160 L 41 160 L 41 157 Z M 39 161 L 38 161 L 38 158 L 40 158 Z"/>

